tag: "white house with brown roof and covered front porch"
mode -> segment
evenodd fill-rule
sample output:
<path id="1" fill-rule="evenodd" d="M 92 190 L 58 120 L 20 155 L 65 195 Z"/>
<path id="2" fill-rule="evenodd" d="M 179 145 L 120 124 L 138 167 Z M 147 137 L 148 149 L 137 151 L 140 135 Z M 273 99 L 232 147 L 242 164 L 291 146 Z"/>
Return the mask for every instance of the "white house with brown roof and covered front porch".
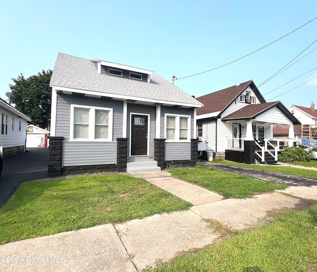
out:
<path id="1" fill-rule="evenodd" d="M 254 82 L 247 81 L 197 98 L 198 150 L 237 162 L 277 161 L 284 145 L 293 145 L 294 125 L 301 123 L 280 102 L 266 102 Z M 288 130 L 284 142 L 273 138 L 273 128 Z"/>

